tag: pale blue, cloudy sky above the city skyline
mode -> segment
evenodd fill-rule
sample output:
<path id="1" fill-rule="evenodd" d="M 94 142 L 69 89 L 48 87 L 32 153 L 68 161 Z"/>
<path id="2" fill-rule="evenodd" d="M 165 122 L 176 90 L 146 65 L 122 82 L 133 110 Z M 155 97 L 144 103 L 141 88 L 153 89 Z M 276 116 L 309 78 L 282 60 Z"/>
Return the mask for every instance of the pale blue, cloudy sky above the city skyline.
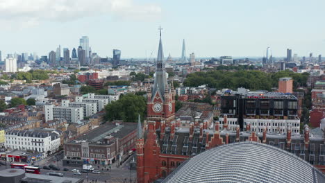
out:
<path id="1" fill-rule="evenodd" d="M 88 35 L 93 52 L 156 58 L 158 27 L 165 57 L 325 56 L 324 0 L 1 0 L 0 50 L 48 55 L 78 47 Z"/>

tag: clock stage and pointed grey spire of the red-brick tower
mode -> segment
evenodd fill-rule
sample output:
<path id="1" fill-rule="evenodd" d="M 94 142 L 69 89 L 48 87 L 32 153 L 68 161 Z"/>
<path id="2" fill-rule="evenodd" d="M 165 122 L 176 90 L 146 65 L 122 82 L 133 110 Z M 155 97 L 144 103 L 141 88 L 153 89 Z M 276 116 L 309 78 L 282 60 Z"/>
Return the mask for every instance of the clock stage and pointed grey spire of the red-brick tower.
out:
<path id="1" fill-rule="evenodd" d="M 156 122 L 156 129 L 160 128 L 160 122 L 165 121 L 165 125 L 175 119 L 175 91 L 174 86 L 167 82 L 168 73 L 165 69 L 165 58 L 163 44 L 160 40 L 158 47 L 158 57 L 156 62 L 155 82 L 147 91 L 147 120 Z"/>

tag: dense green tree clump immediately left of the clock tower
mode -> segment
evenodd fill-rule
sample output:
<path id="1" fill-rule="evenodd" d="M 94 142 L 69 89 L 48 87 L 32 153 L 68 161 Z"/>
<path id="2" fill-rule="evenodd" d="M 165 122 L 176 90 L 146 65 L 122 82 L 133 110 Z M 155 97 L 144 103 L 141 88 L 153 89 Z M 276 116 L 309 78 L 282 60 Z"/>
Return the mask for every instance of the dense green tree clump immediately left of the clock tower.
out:
<path id="1" fill-rule="evenodd" d="M 123 120 L 125 122 L 137 122 L 138 114 L 144 119 L 147 104 L 143 96 L 126 94 L 119 100 L 106 105 L 106 119 L 109 121 Z"/>

